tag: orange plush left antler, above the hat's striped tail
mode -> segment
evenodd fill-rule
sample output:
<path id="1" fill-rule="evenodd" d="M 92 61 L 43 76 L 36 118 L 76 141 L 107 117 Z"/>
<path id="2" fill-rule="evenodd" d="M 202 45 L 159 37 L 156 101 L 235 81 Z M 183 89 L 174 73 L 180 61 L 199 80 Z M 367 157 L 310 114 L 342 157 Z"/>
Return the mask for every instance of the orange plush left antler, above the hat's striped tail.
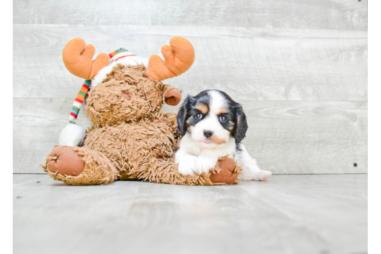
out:
<path id="1" fill-rule="evenodd" d="M 93 61 L 95 48 L 86 45 L 85 41 L 75 38 L 66 44 L 62 52 L 66 69 L 77 77 L 92 79 L 105 66 L 110 63 L 110 57 L 101 53 Z"/>

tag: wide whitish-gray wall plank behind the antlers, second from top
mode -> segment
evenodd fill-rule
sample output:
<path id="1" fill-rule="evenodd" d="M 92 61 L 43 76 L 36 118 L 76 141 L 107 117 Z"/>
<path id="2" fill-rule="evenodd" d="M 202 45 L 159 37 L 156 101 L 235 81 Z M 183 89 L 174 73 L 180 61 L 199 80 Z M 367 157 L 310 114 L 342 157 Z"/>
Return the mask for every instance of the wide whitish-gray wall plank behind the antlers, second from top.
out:
<path id="1" fill-rule="evenodd" d="M 73 98 L 83 80 L 62 62 L 84 38 L 100 52 L 143 57 L 173 36 L 189 39 L 194 66 L 168 80 L 192 94 L 217 88 L 240 100 L 365 101 L 365 32 L 197 26 L 13 24 L 13 97 Z"/>

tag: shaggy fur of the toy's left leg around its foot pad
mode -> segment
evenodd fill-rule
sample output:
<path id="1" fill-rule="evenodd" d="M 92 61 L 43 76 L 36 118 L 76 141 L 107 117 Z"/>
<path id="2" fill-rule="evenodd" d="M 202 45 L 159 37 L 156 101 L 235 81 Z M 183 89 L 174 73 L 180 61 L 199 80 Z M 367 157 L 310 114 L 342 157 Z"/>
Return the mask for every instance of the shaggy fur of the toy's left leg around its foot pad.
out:
<path id="1" fill-rule="evenodd" d="M 55 149 L 64 146 L 56 146 Z M 84 147 L 73 147 L 68 148 L 77 152 L 82 160 L 85 162 L 85 169 L 78 176 L 63 175 L 49 170 L 49 162 L 51 160 L 58 160 L 57 156 L 51 156 L 50 154 L 46 157 L 46 164 L 41 165 L 45 172 L 55 180 L 63 181 L 69 185 L 89 185 L 89 184 L 103 184 L 107 182 L 112 182 L 119 176 L 118 171 L 115 169 L 113 164 L 106 158 L 103 154 L 97 151 L 93 151 Z"/>

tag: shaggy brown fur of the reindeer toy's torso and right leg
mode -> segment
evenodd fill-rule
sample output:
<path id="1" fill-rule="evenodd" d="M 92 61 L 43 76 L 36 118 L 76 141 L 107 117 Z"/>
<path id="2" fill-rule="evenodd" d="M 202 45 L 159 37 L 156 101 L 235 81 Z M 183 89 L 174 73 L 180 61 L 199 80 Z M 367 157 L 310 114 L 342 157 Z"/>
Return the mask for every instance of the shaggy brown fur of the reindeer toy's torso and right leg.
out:
<path id="1" fill-rule="evenodd" d="M 240 168 L 235 162 L 228 167 L 231 172 L 218 174 L 213 182 L 211 174 L 220 173 L 220 164 L 208 174 L 184 176 L 178 172 L 174 163 L 174 154 L 179 139 L 176 114 L 156 113 L 139 122 L 120 122 L 113 126 L 104 126 L 87 134 L 85 147 L 105 154 L 120 172 L 120 179 L 148 180 L 150 182 L 182 185 L 221 185 L 235 183 Z M 226 164 L 226 163 L 225 163 Z M 229 169 L 227 169 L 229 170 Z M 229 175 L 227 177 L 227 175 Z M 224 179 L 226 178 L 226 181 Z M 221 181 L 216 183 L 216 181 Z"/>

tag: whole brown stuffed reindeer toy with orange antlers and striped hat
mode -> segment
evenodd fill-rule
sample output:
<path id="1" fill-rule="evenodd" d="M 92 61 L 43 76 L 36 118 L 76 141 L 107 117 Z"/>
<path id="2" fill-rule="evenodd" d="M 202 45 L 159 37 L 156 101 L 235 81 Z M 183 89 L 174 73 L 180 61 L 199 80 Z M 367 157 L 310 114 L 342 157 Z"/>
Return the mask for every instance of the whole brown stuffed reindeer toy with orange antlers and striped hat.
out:
<path id="1" fill-rule="evenodd" d="M 159 112 L 164 103 L 177 105 L 181 91 L 164 79 L 186 72 L 195 51 L 184 38 L 174 37 L 161 48 L 165 60 L 148 61 L 120 48 L 99 54 L 82 39 L 64 48 L 63 61 L 75 76 L 86 79 L 70 112 L 69 124 L 59 144 L 48 154 L 43 169 L 67 184 L 104 184 L 116 179 L 136 179 L 182 185 L 237 183 L 241 168 L 223 157 L 208 173 L 182 175 L 174 163 L 180 135 L 176 114 Z M 147 68 L 146 68 L 147 66 Z M 76 125 L 85 98 L 92 122 L 87 132 Z"/>

